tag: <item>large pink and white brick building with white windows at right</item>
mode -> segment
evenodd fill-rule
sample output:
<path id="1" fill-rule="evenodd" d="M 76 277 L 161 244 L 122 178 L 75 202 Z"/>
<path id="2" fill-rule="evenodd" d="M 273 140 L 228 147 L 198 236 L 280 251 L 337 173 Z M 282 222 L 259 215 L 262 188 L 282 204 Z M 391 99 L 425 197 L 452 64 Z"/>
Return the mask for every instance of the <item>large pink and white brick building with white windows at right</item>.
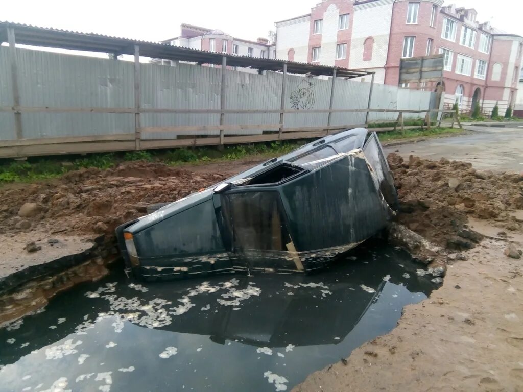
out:
<path id="1" fill-rule="evenodd" d="M 445 102 L 490 112 L 514 105 L 523 37 L 479 23 L 474 9 L 443 0 L 323 0 L 276 22 L 276 58 L 373 71 L 397 85 L 402 57 L 445 54 Z M 402 87 L 435 89 L 436 84 Z"/>

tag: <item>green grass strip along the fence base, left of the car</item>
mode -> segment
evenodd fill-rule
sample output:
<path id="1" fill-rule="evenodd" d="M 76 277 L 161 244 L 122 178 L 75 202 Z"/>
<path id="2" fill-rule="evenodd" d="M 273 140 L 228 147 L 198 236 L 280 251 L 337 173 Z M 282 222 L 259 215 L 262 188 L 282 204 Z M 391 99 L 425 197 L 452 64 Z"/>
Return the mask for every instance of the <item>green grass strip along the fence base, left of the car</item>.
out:
<path id="1" fill-rule="evenodd" d="M 304 145 L 304 141 L 272 142 L 227 146 L 222 150 L 209 147 L 142 150 L 126 153 L 89 154 L 87 156 L 31 157 L 27 160 L 0 160 L 0 184 L 32 182 L 58 178 L 68 171 L 96 167 L 110 169 L 122 162 L 144 160 L 169 166 L 203 164 L 247 157 L 282 155 Z"/>

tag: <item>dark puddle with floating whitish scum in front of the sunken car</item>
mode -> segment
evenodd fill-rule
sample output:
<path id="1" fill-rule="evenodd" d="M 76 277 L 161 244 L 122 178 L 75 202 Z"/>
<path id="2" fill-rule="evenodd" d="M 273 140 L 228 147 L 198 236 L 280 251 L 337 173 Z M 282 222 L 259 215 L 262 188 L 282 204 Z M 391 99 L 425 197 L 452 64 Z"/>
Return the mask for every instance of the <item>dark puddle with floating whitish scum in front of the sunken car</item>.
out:
<path id="1" fill-rule="evenodd" d="M 435 289 L 394 248 L 313 275 L 126 282 L 118 270 L 0 329 L 0 390 L 283 391 Z"/>

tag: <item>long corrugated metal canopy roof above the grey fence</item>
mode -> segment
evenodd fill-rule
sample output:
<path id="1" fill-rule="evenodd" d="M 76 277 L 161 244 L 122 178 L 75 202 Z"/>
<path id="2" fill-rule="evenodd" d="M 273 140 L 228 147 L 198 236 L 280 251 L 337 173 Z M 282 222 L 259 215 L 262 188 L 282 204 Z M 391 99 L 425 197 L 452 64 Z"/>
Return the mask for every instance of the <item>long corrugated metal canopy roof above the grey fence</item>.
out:
<path id="1" fill-rule="evenodd" d="M 227 58 L 227 65 L 229 66 L 251 67 L 260 71 L 281 71 L 283 64 L 287 64 L 287 72 L 291 74 L 332 76 L 333 71 L 336 70 L 338 77 L 348 79 L 372 74 L 372 72 L 353 71 L 340 67 L 207 52 L 197 49 L 175 47 L 163 43 L 103 36 L 95 33 L 20 25 L 10 22 L 0 22 L 0 42 L 7 41 L 8 28 L 14 29 L 16 43 L 37 47 L 113 53 L 116 55 L 134 55 L 134 45 L 139 45 L 141 56 L 152 57 L 154 59 L 188 61 L 198 64 L 222 64 L 222 59 L 225 56 Z"/>

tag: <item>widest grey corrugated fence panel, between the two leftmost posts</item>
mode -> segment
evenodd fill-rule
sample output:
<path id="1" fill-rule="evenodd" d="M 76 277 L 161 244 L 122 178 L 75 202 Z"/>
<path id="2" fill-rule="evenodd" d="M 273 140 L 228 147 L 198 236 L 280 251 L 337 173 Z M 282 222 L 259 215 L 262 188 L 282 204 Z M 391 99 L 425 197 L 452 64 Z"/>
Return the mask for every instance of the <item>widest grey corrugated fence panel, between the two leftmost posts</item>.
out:
<path id="1" fill-rule="evenodd" d="M 133 64 L 18 49 L 21 106 L 133 107 Z M 66 137 L 134 132 L 133 114 L 22 113 L 23 135 Z"/>

